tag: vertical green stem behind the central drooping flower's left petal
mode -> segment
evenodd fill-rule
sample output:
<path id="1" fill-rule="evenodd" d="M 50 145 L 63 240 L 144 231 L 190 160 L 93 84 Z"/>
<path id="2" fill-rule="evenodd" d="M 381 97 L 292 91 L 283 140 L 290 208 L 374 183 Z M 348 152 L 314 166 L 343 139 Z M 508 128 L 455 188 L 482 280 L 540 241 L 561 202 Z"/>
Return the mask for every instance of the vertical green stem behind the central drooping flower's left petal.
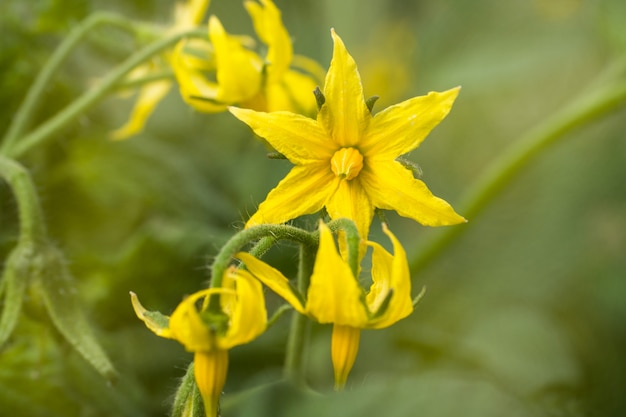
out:
<path id="1" fill-rule="evenodd" d="M 313 264 L 315 263 L 315 252 L 314 247 L 300 246 L 300 263 L 296 286 L 301 294 L 306 294 L 309 287 Z M 310 322 L 307 317 L 294 311 L 291 316 L 291 328 L 287 339 L 284 375 L 288 380 L 298 385 L 304 385 L 309 327 Z"/>

